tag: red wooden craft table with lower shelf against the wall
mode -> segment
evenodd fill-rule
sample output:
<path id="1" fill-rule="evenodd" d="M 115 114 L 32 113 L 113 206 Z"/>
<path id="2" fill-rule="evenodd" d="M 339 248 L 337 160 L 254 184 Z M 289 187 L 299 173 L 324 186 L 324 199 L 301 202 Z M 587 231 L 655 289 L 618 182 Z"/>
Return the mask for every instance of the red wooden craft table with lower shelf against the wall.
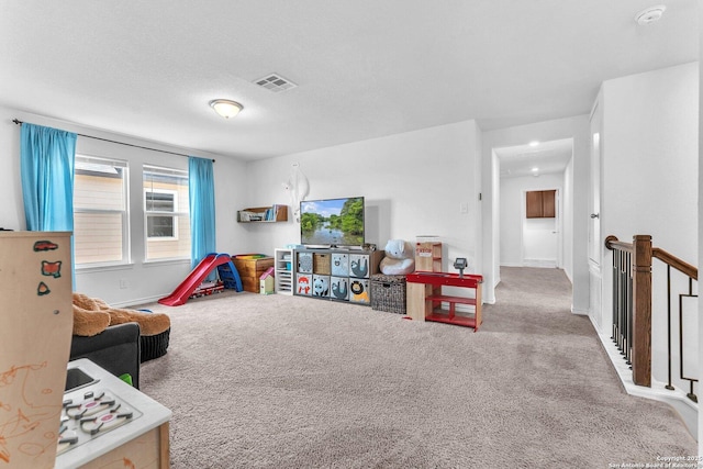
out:
<path id="1" fill-rule="evenodd" d="M 414 272 L 406 276 L 408 315 L 415 321 L 434 321 L 479 330 L 481 317 L 481 283 L 478 275 L 447 272 Z M 460 287 L 475 290 L 473 298 L 443 294 L 442 287 Z M 442 310 L 442 303 L 448 303 L 449 310 Z M 456 314 L 457 304 L 470 304 L 473 316 Z"/>

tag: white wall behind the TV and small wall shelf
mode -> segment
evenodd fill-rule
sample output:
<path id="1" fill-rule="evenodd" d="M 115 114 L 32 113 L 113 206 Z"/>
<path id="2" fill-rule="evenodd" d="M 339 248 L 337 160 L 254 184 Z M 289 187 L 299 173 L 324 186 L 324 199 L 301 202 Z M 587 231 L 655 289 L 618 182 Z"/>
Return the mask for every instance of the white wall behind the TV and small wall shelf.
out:
<path id="1" fill-rule="evenodd" d="M 473 121 L 424 129 L 247 164 L 248 206 L 290 204 L 281 183 L 299 163 L 310 181 L 308 200 L 364 196 L 366 238 L 382 249 L 391 238 L 415 242 L 437 235 L 444 269 L 467 257 L 481 272 L 480 204 L 477 187 L 479 131 Z M 460 213 L 461 203 L 469 211 Z M 276 247 L 300 243 L 300 225 L 243 224 L 252 252 L 272 254 Z"/>

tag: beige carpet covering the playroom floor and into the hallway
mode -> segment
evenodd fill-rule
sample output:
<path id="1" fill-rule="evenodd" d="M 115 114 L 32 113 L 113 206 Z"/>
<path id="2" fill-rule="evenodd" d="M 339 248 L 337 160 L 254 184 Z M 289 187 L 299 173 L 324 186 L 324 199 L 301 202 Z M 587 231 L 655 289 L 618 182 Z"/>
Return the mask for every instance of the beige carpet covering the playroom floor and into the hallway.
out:
<path id="1" fill-rule="evenodd" d="M 698 451 L 624 393 L 556 269 L 502 269 L 470 328 L 226 292 L 178 308 L 142 390 L 171 409 L 174 468 L 609 468 Z"/>

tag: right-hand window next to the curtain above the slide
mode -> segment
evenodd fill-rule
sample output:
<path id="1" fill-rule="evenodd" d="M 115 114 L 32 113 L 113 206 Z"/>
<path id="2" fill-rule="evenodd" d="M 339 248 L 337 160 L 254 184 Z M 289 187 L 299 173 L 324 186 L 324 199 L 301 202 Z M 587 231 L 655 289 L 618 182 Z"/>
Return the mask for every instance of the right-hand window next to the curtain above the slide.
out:
<path id="1" fill-rule="evenodd" d="M 144 166 L 146 260 L 190 258 L 188 171 Z"/>

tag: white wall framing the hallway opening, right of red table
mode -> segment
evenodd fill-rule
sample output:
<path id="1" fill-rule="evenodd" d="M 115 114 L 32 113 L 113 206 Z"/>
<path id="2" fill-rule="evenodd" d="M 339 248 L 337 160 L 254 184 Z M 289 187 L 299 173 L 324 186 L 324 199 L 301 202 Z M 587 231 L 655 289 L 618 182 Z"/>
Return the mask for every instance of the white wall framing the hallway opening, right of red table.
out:
<path id="1" fill-rule="evenodd" d="M 531 141 L 573 138 L 573 158 L 565 172 L 565 270 L 573 283 L 572 311 L 587 314 L 589 310 L 588 271 L 588 181 L 589 121 L 588 115 L 539 122 L 510 129 L 484 132 L 482 135 L 482 234 L 483 293 L 487 302 L 495 301 L 494 287 L 500 281 L 500 179 L 498 157 L 493 148 L 525 145 Z M 568 190 L 568 193 L 566 191 Z M 567 232 L 569 231 L 569 232 Z M 572 268 L 572 270 L 570 270 Z"/>

